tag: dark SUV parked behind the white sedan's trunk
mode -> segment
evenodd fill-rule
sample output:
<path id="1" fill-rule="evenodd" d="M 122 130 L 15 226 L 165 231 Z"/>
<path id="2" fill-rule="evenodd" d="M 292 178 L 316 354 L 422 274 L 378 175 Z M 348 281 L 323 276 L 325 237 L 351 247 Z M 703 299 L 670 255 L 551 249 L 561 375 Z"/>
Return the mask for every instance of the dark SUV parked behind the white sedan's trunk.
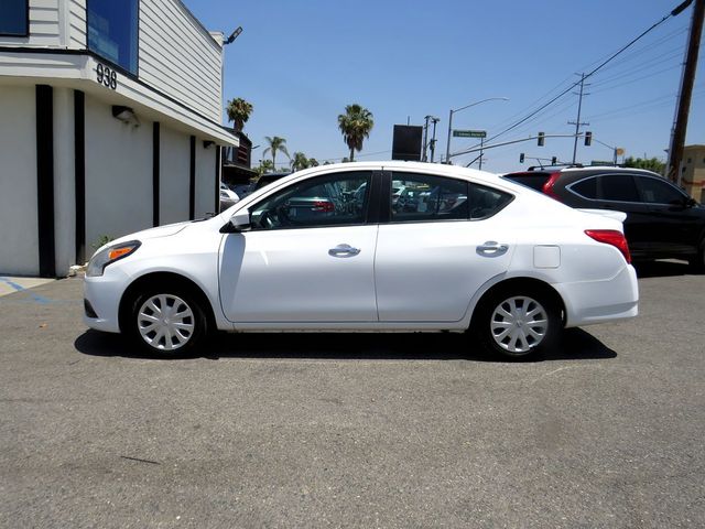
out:
<path id="1" fill-rule="evenodd" d="M 627 214 L 625 235 L 634 260 L 687 259 L 705 271 L 705 207 L 663 176 L 627 168 L 536 168 L 505 179 L 575 208 Z"/>

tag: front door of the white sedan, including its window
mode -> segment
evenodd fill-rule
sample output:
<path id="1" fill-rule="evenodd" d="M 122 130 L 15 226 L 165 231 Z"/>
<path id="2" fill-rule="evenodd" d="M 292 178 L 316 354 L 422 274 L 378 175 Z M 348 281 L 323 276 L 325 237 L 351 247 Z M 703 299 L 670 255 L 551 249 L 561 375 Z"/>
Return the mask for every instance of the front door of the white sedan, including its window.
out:
<path id="1" fill-rule="evenodd" d="M 296 181 L 250 206 L 220 250 L 220 300 L 237 323 L 376 322 L 372 173 Z M 341 190 L 319 196 L 321 188 Z M 356 193 L 362 187 L 364 192 Z"/>

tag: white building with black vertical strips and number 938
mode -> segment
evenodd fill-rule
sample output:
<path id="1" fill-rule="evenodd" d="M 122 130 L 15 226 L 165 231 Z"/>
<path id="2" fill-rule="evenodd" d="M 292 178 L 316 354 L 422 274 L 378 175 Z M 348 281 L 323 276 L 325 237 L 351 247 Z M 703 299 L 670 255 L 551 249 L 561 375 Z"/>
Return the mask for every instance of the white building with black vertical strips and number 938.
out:
<path id="1" fill-rule="evenodd" d="M 0 2 L 0 273 L 218 210 L 223 34 L 178 0 Z"/>

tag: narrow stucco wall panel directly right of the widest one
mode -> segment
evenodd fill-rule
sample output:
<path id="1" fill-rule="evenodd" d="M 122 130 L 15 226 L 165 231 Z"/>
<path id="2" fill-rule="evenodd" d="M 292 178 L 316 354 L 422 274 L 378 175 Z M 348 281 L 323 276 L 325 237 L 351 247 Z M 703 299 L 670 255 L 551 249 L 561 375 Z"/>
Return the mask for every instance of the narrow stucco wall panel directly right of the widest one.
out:
<path id="1" fill-rule="evenodd" d="M 160 224 L 188 220 L 188 134 L 161 128 L 160 138 Z"/>

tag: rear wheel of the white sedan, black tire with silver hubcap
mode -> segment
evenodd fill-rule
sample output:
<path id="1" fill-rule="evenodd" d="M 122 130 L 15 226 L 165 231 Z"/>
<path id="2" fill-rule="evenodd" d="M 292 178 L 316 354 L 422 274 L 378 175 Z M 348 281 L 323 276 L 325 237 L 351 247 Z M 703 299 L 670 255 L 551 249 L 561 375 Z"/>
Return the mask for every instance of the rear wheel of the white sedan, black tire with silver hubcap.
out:
<path id="1" fill-rule="evenodd" d="M 474 326 L 485 349 L 518 360 L 554 350 L 563 323 L 551 295 L 539 289 L 510 287 L 482 302 Z"/>

